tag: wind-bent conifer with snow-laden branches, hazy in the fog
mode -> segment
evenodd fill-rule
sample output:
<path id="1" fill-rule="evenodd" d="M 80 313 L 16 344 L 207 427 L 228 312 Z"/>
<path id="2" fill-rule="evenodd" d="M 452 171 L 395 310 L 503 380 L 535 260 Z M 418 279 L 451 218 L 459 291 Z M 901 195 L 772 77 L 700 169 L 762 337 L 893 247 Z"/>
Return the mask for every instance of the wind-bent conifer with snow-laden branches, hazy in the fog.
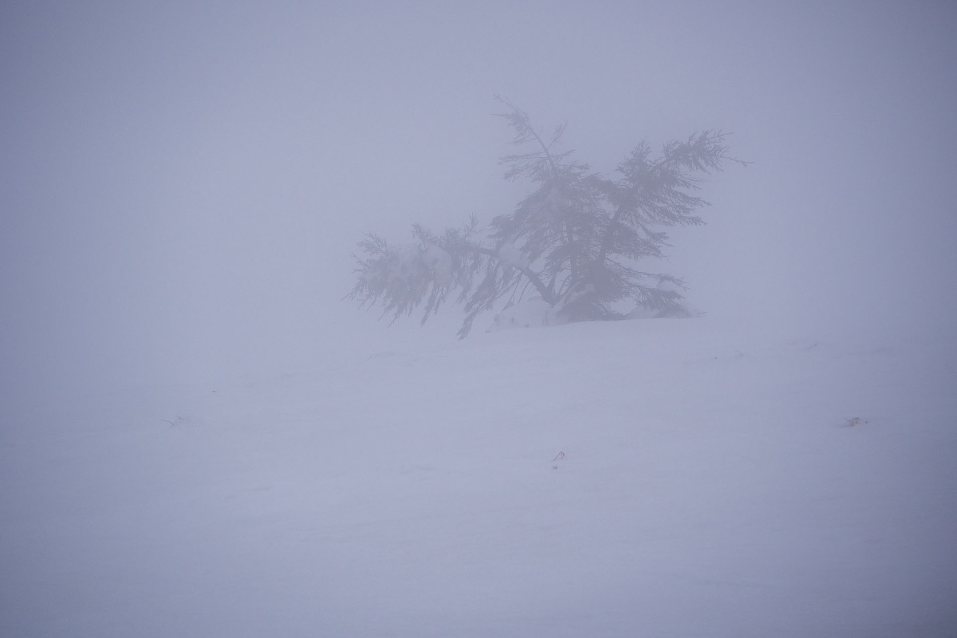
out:
<path id="1" fill-rule="evenodd" d="M 473 215 L 440 234 L 414 225 L 408 246 L 367 235 L 348 297 L 361 307 L 381 304 L 393 320 L 423 307 L 422 323 L 454 300 L 465 311 L 459 338 L 480 312 L 531 291 L 567 321 L 624 319 L 617 307 L 625 300 L 662 312 L 679 307 L 678 277 L 637 266 L 664 256 L 662 229 L 704 223 L 696 213 L 708 203 L 694 194 L 702 175 L 725 161 L 745 164 L 728 157 L 724 134 L 695 133 L 657 154 L 639 143 L 611 178 L 558 150 L 564 125 L 545 136 L 524 111 L 502 103 L 513 143 L 526 149 L 501 158 L 505 179 L 527 181 L 531 193 L 486 229 Z"/>

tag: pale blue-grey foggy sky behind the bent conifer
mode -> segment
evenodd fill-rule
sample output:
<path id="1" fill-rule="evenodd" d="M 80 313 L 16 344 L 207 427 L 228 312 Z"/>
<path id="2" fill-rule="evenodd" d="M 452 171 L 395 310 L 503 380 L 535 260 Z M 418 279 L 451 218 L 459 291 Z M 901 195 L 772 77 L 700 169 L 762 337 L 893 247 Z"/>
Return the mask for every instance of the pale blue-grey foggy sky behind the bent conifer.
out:
<path id="1" fill-rule="evenodd" d="M 709 315 L 952 340 L 955 33 L 951 2 L 5 3 L 0 382 L 454 341 L 341 299 L 362 233 L 513 209 L 496 94 L 601 171 L 733 132 L 755 164 L 644 265 Z"/>

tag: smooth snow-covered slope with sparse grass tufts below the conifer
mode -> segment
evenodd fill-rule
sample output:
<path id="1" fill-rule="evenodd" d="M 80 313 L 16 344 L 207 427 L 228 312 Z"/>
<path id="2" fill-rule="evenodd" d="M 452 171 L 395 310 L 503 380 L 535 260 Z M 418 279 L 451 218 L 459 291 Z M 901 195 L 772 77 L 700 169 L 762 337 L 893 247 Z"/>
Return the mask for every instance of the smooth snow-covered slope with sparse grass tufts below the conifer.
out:
<path id="1" fill-rule="evenodd" d="M 0 634 L 954 635 L 952 362 L 646 319 L 21 407 Z"/>

